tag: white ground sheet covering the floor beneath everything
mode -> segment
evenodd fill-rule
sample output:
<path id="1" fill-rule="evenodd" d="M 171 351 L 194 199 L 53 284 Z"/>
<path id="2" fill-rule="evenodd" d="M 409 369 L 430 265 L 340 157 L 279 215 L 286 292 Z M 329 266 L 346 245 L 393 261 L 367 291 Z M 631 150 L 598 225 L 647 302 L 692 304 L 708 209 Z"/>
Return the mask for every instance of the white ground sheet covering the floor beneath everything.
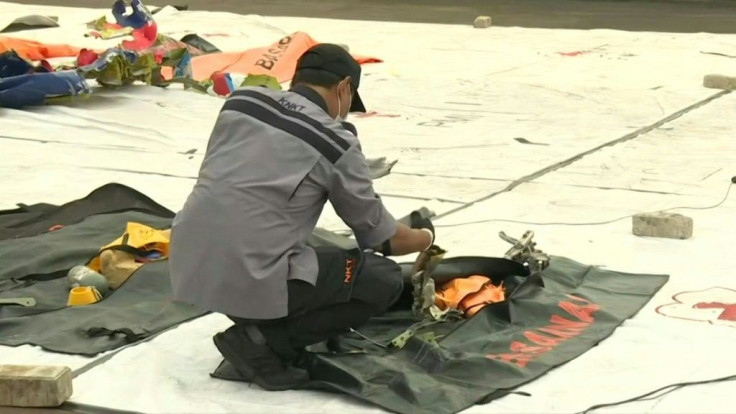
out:
<path id="1" fill-rule="evenodd" d="M 116 43 L 83 37 L 84 23 L 106 10 L 2 2 L 0 10 L 0 26 L 28 14 L 60 17 L 60 28 L 17 37 L 94 48 Z M 162 33 L 180 38 L 196 32 L 225 51 L 265 46 L 301 30 L 383 59 L 364 66 L 361 84 L 363 100 L 378 115 L 351 120 L 368 157 L 399 161 L 376 182 L 392 212 L 404 215 L 421 206 L 451 212 L 436 220 L 438 243 L 450 255 L 501 255 L 508 245 L 498 238 L 500 230 L 518 236 L 533 229 L 539 246 L 554 255 L 671 275 L 613 336 L 520 388 L 532 397 L 511 395 L 468 412 L 576 412 L 675 382 L 736 374 L 736 321 L 718 319 L 718 309 L 692 306 L 736 304 L 736 194 L 714 209 L 673 210 L 693 217 L 689 240 L 633 236 L 630 218 L 605 225 L 490 221 L 440 227 L 489 219 L 603 222 L 718 203 L 736 175 L 736 94 L 489 196 L 718 94 L 702 87 L 703 76 L 736 76 L 736 64 L 701 52 L 734 55 L 735 35 L 479 30 L 168 8 L 155 17 Z M 575 51 L 588 53 L 558 53 Z M 0 208 L 64 203 L 119 182 L 177 210 L 194 183 L 222 103 L 178 87 L 136 86 L 97 90 L 67 106 L 0 109 Z M 191 149 L 194 155 L 183 154 Z M 321 224 L 345 228 L 332 210 Z M 691 293 L 677 296 L 683 302 L 677 304 L 673 296 L 682 292 Z M 345 396 L 268 393 L 211 379 L 208 373 L 221 360 L 211 337 L 228 325 L 224 317 L 210 315 L 127 348 L 75 379 L 71 400 L 162 413 L 380 411 Z M 90 361 L 30 346 L 0 347 L 0 363 L 76 369 Z M 697 386 L 601 412 L 732 412 L 735 391 L 736 382 Z"/>

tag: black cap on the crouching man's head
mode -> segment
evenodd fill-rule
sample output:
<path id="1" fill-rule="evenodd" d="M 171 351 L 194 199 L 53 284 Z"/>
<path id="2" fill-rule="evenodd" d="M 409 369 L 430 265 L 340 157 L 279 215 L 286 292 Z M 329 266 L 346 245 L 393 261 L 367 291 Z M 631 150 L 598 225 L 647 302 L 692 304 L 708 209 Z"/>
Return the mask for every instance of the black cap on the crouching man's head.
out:
<path id="1" fill-rule="evenodd" d="M 350 112 L 365 112 L 363 100 L 358 95 L 360 85 L 360 64 L 342 47 L 330 43 L 312 46 L 296 62 L 297 72 L 301 69 L 313 69 L 330 72 L 346 78 L 350 76 L 353 87 L 353 101 Z"/>

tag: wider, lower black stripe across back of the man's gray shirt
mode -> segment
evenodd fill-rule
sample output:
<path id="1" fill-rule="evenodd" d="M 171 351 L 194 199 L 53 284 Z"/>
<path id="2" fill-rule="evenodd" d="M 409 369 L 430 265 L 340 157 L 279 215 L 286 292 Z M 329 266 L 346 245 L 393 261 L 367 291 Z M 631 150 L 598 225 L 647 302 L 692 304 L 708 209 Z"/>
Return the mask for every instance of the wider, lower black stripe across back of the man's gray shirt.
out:
<path id="1" fill-rule="evenodd" d="M 245 101 L 242 99 L 229 99 L 225 102 L 222 110 L 240 112 L 266 123 L 273 128 L 293 135 L 312 146 L 312 148 L 316 149 L 320 154 L 322 154 L 322 156 L 327 158 L 327 160 L 333 164 L 342 156 L 340 150 L 333 147 L 314 131 L 303 125 L 297 124 L 289 118 L 278 116 L 255 102 Z"/>

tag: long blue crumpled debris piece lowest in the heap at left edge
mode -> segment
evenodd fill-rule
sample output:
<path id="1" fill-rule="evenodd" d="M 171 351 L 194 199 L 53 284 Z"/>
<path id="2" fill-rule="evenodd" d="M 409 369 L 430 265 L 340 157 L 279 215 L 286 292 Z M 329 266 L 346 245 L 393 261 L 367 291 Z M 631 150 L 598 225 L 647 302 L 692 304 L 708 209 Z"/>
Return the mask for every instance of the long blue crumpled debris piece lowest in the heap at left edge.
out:
<path id="1" fill-rule="evenodd" d="M 21 109 L 43 105 L 46 99 L 90 93 L 76 71 L 31 73 L 0 79 L 0 107 Z"/>

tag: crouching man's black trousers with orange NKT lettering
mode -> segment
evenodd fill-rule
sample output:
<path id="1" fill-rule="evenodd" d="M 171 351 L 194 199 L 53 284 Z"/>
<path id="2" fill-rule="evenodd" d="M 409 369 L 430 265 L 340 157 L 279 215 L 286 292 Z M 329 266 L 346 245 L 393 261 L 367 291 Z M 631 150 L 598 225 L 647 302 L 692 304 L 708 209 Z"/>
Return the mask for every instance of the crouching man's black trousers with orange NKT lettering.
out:
<path id="1" fill-rule="evenodd" d="M 268 345 L 290 359 L 299 349 L 356 328 L 382 314 L 402 293 L 399 265 L 359 250 L 317 248 L 315 286 L 289 280 L 289 314 L 275 320 L 230 317 L 236 325 L 257 325 Z"/>

